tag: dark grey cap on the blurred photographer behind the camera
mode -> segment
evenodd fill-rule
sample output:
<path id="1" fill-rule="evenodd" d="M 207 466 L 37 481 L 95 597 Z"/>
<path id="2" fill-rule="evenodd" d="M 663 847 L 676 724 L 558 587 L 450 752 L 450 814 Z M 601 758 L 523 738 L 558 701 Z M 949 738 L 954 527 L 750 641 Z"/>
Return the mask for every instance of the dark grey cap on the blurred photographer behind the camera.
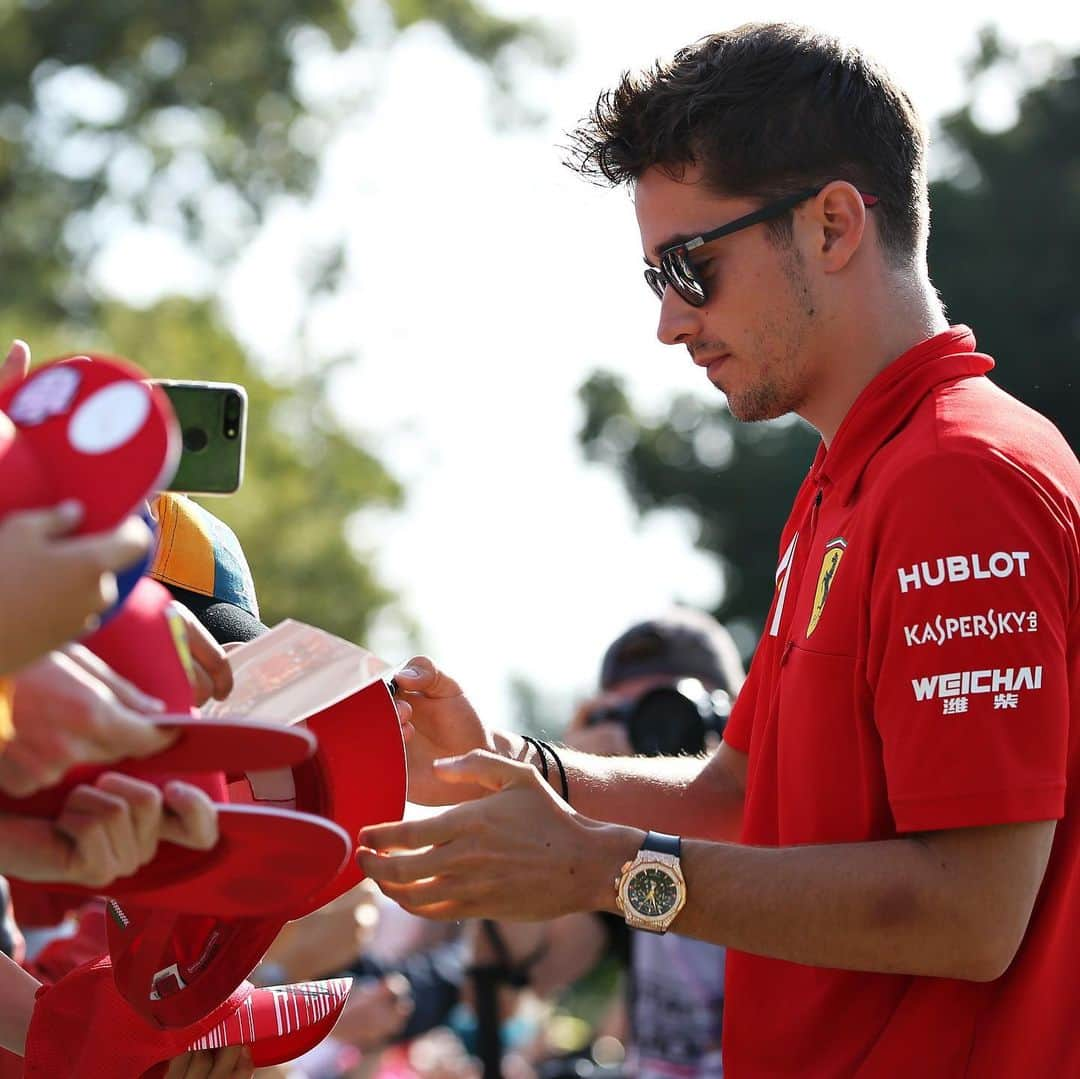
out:
<path id="1" fill-rule="evenodd" d="M 673 607 L 621 633 L 600 662 L 600 688 L 650 674 L 696 677 L 732 697 L 743 683 L 731 634 L 712 616 L 688 607 Z"/>

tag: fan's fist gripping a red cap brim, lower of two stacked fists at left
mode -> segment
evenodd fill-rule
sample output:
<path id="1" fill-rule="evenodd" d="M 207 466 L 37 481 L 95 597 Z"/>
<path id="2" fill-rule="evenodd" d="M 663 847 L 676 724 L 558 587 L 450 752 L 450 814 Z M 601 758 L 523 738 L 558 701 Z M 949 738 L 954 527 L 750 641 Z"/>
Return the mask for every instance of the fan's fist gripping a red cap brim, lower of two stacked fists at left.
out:
<path id="1" fill-rule="evenodd" d="M 217 810 L 198 787 L 106 772 L 75 787 L 55 821 L 0 818 L 0 872 L 41 884 L 108 890 L 153 859 L 162 840 L 210 850 Z"/>

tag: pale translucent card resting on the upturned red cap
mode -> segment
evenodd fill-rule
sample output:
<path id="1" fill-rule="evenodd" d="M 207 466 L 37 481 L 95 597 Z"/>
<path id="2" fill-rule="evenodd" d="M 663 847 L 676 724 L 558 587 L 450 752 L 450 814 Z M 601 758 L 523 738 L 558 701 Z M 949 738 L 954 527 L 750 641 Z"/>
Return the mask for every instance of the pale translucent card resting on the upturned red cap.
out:
<path id="1" fill-rule="evenodd" d="M 328 709 L 379 677 L 389 678 L 391 671 L 366 648 L 293 619 L 230 650 L 229 662 L 232 692 L 204 704 L 202 715 L 256 716 L 283 726 Z"/>

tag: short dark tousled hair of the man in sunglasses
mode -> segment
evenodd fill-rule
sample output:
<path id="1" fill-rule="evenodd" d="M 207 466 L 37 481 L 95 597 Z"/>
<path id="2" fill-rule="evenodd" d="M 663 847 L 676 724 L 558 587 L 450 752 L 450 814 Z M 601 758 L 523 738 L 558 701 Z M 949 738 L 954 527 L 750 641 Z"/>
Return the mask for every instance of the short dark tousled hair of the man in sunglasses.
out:
<path id="1" fill-rule="evenodd" d="M 881 245 L 923 249 L 926 130 L 910 98 L 858 50 L 786 23 L 747 24 L 623 75 L 570 133 L 567 164 L 632 184 L 700 165 L 710 189 L 762 201 L 843 179 L 876 194 Z M 774 229 L 791 234 L 791 215 Z"/>

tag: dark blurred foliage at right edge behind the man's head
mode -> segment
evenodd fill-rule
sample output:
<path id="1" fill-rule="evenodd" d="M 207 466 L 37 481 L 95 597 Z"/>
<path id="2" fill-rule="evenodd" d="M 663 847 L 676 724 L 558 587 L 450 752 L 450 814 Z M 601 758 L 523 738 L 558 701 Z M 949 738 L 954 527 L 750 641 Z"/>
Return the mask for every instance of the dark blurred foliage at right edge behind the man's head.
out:
<path id="1" fill-rule="evenodd" d="M 975 331 L 995 379 L 1078 449 L 1080 56 L 1023 95 L 1008 131 L 981 130 L 971 108 L 943 126 L 962 161 L 930 192 L 930 267 L 949 319 Z"/>

